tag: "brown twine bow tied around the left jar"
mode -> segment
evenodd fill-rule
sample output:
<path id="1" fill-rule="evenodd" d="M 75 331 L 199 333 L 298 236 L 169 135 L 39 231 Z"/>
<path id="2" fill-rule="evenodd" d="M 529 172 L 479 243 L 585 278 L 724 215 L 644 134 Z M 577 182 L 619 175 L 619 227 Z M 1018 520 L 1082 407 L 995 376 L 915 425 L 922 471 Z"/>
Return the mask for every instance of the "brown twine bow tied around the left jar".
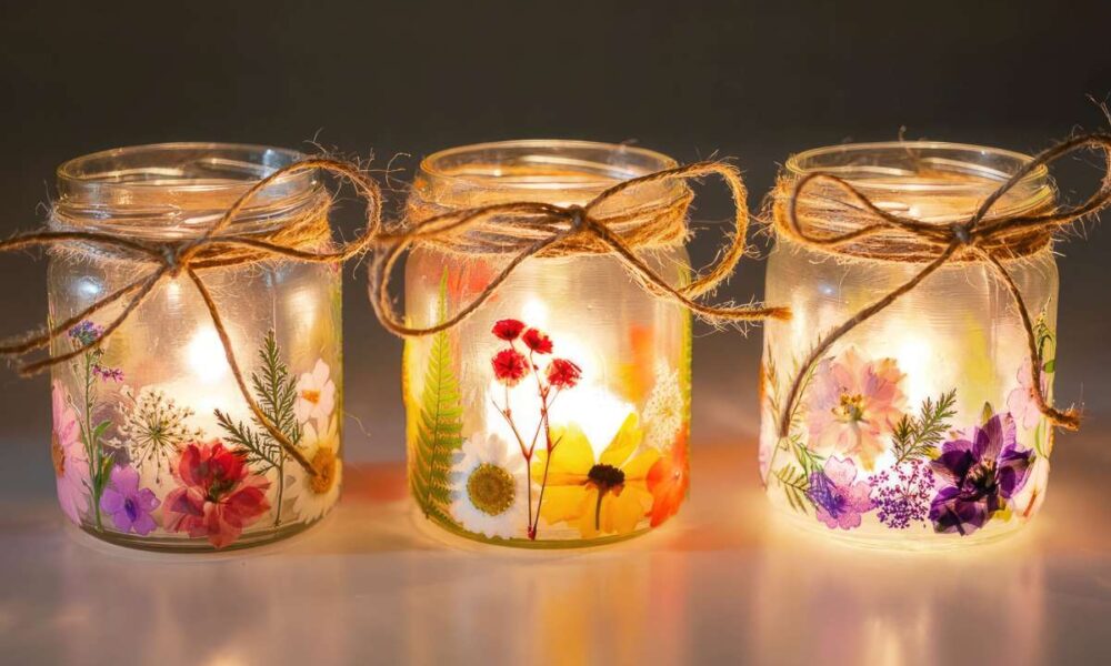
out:
<path id="1" fill-rule="evenodd" d="M 349 181 L 367 200 L 367 224 L 353 240 L 319 249 L 319 241 L 327 238 L 331 226 L 328 222 L 329 200 L 324 205 L 316 205 L 312 211 L 297 220 L 283 224 L 277 231 L 256 236 L 236 235 L 229 230 L 236 216 L 260 192 L 276 180 L 300 172 L 324 171 Z M 269 259 L 293 260 L 309 263 L 340 264 L 358 256 L 373 242 L 381 228 L 382 199 L 378 184 L 358 165 L 328 158 L 310 158 L 274 171 L 260 180 L 244 192 L 204 233 L 189 240 L 174 241 L 137 241 L 123 235 L 94 231 L 33 231 L 17 234 L 0 241 L 0 252 L 13 252 L 28 248 L 64 248 L 70 251 L 81 251 L 81 248 L 94 246 L 122 251 L 124 261 L 138 265 L 153 264 L 153 269 L 140 274 L 134 281 L 96 301 L 81 312 L 70 316 L 54 326 L 48 326 L 39 332 L 0 341 L 0 355 L 18 359 L 26 354 L 50 345 L 63 336 L 67 331 L 114 303 L 123 303 L 122 310 L 100 335 L 69 352 L 49 355 L 39 361 L 23 363 L 18 372 L 22 376 L 38 374 L 59 363 L 63 363 L 80 354 L 99 347 L 103 341 L 119 329 L 131 314 L 154 292 L 166 280 L 172 280 L 181 274 L 188 275 L 208 309 L 223 345 L 224 357 L 231 367 L 232 375 L 239 386 L 243 400 L 251 413 L 274 438 L 281 447 L 298 462 L 310 475 L 318 471 L 303 453 L 271 422 L 248 390 L 247 381 L 236 359 L 231 337 L 224 326 L 223 316 L 217 306 L 211 292 L 201 280 L 198 271 L 218 266 L 241 265 Z M 317 241 L 317 242 L 313 242 Z M 317 245 L 317 246 L 313 246 Z"/>

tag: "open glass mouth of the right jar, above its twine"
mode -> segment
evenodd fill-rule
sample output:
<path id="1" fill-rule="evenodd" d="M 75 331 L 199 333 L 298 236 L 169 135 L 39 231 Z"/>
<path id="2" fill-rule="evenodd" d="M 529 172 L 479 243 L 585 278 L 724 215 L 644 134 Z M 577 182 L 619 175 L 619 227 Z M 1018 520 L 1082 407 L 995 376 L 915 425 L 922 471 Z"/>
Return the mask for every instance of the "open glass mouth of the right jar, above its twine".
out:
<path id="1" fill-rule="evenodd" d="M 883 210 L 925 222 L 952 222 L 980 203 L 1033 158 L 1020 152 L 942 141 L 848 143 L 810 149 L 788 159 L 790 180 L 815 172 L 847 180 Z M 848 196 L 848 194 L 845 194 Z M 1030 171 L 992 208 L 990 216 L 1051 205 L 1055 190 L 1044 164 Z"/>

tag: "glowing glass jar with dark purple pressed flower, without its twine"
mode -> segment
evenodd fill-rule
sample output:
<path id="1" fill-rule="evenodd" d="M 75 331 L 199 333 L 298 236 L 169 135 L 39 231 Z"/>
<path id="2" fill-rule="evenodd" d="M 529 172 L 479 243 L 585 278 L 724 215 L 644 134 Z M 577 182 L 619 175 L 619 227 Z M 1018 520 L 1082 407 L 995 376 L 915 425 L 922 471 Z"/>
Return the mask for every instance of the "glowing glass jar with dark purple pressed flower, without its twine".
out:
<path id="1" fill-rule="evenodd" d="M 1029 157 L 933 142 L 850 144 L 791 158 L 785 193 L 820 171 L 847 179 L 881 209 L 950 225 Z M 1044 167 L 989 213 L 1054 205 Z M 841 208 L 844 206 L 844 208 Z M 855 206 L 855 208 L 850 208 Z M 852 215 L 839 211 L 855 211 Z M 842 190 L 804 192 L 811 235 L 852 231 L 860 209 Z M 872 220 L 874 221 L 874 220 Z M 825 334 L 918 274 L 937 255 L 880 234 L 832 254 L 779 234 L 767 299 L 789 305 L 770 321 L 762 365 L 760 470 L 772 504 L 799 524 L 859 544 L 963 546 L 1014 532 L 1045 497 L 1053 428 L 1031 394 L 1027 334 L 1007 287 L 984 262 L 957 259 L 801 367 Z M 1048 238 L 1003 262 L 1033 320 L 1049 397 L 1058 273 Z M 801 398 L 780 437 L 792 380 Z"/>

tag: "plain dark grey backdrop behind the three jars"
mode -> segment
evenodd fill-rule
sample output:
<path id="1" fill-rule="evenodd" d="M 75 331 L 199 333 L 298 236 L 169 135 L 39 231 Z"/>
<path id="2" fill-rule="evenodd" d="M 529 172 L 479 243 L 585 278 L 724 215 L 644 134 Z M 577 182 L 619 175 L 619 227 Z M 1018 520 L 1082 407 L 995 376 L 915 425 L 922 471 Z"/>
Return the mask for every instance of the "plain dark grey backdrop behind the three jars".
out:
<path id="1" fill-rule="evenodd" d="M 187 140 L 317 138 L 379 167 L 410 153 L 402 180 L 420 155 L 477 141 L 635 141 L 680 161 L 735 157 L 755 206 L 778 163 L 812 145 L 902 133 L 1037 151 L 1105 128 L 1087 95 L 1111 91 L 1109 26 L 1107 1 L 8 2 L 0 231 L 41 222 L 68 158 Z M 1062 186 L 1093 173 L 1068 170 Z M 698 214 L 723 219 L 722 198 Z M 707 226 L 700 263 L 718 240 Z M 1057 393 L 1097 427 L 1111 412 L 1107 232 L 1061 248 Z M 0 332 L 16 333 L 44 315 L 44 265 L 0 266 Z M 760 294 L 762 272 L 748 262 L 723 295 Z M 398 460 L 401 346 L 373 322 L 362 270 L 347 274 L 347 407 L 369 433 L 349 430 L 348 455 Z M 698 341 L 697 438 L 753 446 L 758 354 L 759 334 Z M 0 498 L 48 495 L 47 382 L 0 369 Z"/>

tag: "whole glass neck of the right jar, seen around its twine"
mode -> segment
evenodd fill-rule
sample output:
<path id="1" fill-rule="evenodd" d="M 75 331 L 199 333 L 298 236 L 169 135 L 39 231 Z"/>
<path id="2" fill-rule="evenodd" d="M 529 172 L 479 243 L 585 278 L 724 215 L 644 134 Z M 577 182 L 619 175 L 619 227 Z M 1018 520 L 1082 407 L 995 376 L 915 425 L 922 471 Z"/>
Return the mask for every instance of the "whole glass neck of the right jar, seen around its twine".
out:
<path id="1" fill-rule="evenodd" d="M 883 223 L 851 191 L 829 180 L 808 181 L 797 196 L 795 185 L 815 173 L 842 179 L 885 213 L 940 229 L 973 219 L 983 202 L 1031 160 L 1000 149 L 925 141 L 809 150 L 788 160 L 777 183 L 777 230 L 781 239 L 793 238 L 787 219 L 792 203 L 799 226 L 812 238 L 840 236 Z M 1039 167 L 1004 192 L 983 221 L 1048 212 L 1054 206 L 1052 179 L 1044 167 Z M 1044 248 L 1050 235 L 1032 230 L 1004 243 L 1014 255 L 1027 255 Z M 912 262 L 930 261 L 939 253 L 935 244 L 893 226 L 830 248 L 830 252 Z"/>

